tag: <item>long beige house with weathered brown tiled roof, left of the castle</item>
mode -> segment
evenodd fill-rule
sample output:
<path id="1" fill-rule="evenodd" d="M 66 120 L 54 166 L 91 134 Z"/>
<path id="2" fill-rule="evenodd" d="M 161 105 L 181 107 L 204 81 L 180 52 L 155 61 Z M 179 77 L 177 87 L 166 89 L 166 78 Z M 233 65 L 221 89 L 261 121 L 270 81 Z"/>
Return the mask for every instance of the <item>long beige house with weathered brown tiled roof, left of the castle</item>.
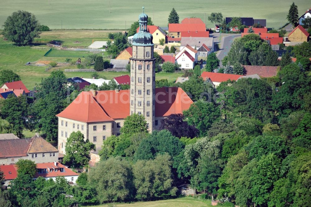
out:
<path id="1" fill-rule="evenodd" d="M 1 139 L 0 165 L 10 165 L 19 159 L 36 163 L 58 161 L 58 150 L 41 137 L 29 139 Z"/>

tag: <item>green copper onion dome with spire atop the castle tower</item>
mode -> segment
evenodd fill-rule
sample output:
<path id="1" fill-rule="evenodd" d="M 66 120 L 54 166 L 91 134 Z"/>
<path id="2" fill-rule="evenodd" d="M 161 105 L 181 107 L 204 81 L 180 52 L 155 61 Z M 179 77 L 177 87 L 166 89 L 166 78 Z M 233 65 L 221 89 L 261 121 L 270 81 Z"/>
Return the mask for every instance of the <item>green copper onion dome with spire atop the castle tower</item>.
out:
<path id="1" fill-rule="evenodd" d="M 148 16 L 144 13 L 144 8 L 142 7 L 142 13 L 138 16 L 139 21 L 139 32 L 136 33 L 133 37 L 133 44 L 135 46 L 151 46 L 154 45 L 152 43 L 152 35 L 147 32 L 147 22 Z"/>

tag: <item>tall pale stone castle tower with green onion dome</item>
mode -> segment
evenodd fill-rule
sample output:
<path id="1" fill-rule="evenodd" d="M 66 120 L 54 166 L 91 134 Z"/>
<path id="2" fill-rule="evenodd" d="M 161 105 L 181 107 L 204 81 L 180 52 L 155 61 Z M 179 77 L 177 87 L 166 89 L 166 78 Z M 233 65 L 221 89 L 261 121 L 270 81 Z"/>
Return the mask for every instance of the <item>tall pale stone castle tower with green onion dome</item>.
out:
<path id="1" fill-rule="evenodd" d="M 152 35 L 147 32 L 148 16 L 138 17 L 139 32 L 133 37 L 131 61 L 130 114 L 145 116 L 148 130 L 154 129 L 155 122 L 155 58 L 153 57 Z"/>

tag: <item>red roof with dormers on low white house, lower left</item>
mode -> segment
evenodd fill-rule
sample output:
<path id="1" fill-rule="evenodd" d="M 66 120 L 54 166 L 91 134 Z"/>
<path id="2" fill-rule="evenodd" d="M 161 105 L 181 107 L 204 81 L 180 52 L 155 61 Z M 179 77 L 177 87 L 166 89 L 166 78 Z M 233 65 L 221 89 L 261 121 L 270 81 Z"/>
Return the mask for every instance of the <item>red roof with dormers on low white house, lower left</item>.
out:
<path id="1" fill-rule="evenodd" d="M 78 176 L 79 174 L 73 172 L 71 169 L 65 167 L 59 162 L 56 162 L 57 166 L 55 166 L 54 162 L 47 162 L 47 163 L 37 163 L 38 169 L 46 169 L 47 173 L 36 173 L 36 177 L 57 177 L 57 176 Z M 64 168 L 63 172 L 60 172 L 59 168 Z M 52 172 L 50 172 L 50 169 L 53 169 Z M 55 169 L 57 171 L 55 172 Z"/>

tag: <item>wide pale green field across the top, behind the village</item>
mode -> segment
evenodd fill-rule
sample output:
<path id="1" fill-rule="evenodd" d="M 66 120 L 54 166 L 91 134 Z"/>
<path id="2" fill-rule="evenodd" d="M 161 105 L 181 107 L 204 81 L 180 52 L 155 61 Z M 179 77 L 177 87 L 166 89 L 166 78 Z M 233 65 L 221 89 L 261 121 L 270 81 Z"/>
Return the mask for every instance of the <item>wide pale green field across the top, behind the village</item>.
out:
<path id="1" fill-rule="evenodd" d="M 207 21 L 211 12 L 222 12 L 223 16 L 254 17 L 267 19 L 267 27 L 279 28 L 287 20 L 286 15 L 292 0 L 188 0 L 178 1 L 143 1 L 143 0 L 11 0 L 1 1 L 0 26 L 7 16 L 17 10 L 26 10 L 35 14 L 41 24 L 52 29 L 125 29 L 137 21 L 138 15 L 145 6 L 145 13 L 150 16 L 155 25 L 167 26 L 169 12 L 174 7 L 180 20 L 196 16 L 212 27 Z M 50 4 L 49 4 L 50 3 Z M 309 7 L 309 0 L 296 0 L 299 16 Z"/>

